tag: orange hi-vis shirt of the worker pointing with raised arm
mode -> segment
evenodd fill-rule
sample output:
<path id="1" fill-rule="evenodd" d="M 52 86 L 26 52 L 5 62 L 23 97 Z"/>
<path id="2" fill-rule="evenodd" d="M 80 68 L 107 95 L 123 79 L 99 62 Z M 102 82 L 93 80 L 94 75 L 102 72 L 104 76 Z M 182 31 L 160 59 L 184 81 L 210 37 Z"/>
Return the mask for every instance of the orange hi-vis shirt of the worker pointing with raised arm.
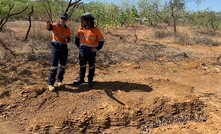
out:
<path id="1" fill-rule="evenodd" d="M 59 23 L 53 23 L 52 41 L 66 44 L 66 39 L 71 37 L 71 30 L 65 25 L 61 27 Z"/>

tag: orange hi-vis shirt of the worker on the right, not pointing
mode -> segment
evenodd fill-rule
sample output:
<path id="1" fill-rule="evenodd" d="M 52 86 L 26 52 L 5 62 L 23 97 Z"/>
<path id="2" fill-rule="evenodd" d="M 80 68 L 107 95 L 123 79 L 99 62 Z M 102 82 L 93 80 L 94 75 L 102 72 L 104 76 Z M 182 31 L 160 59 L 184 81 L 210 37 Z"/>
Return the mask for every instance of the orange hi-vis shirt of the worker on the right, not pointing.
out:
<path id="1" fill-rule="evenodd" d="M 97 27 L 79 28 L 76 36 L 80 39 L 80 45 L 88 47 L 97 47 L 99 41 L 104 41 L 103 34 Z"/>

